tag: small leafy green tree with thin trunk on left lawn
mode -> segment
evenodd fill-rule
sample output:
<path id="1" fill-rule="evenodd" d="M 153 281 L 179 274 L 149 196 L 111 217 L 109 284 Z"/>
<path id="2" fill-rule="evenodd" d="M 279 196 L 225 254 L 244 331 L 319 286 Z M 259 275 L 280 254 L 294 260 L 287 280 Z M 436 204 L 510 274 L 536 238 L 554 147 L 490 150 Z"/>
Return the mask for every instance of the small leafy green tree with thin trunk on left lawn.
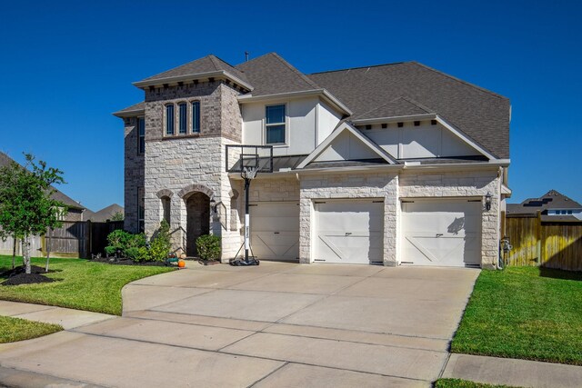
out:
<path id="1" fill-rule="evenodd" d="M 53 184 L 64 184 L 63 172 L 46 163 L 35 163 L 25 154 L 26 164 L 12 162 L 0 168 L 0 237 L 22 240 L 23 264 L 30 274 L 30 239 L 62 225 L 66 205 L 53 199 Z M 48 265 L 47 265 L 48 267 Z"/>

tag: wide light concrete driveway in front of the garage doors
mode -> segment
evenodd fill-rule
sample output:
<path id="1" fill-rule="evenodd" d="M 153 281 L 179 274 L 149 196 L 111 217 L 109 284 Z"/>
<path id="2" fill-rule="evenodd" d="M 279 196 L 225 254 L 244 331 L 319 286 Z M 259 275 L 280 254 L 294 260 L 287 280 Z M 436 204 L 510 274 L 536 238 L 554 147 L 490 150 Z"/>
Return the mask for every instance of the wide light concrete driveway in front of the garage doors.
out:
<path id="1" fill-rule="evenodd" d="M 105 386 L 429 386 L 478 274 L 188 265 L 128 284 L 123 317 L 4 345 L 0 364 Z"/>

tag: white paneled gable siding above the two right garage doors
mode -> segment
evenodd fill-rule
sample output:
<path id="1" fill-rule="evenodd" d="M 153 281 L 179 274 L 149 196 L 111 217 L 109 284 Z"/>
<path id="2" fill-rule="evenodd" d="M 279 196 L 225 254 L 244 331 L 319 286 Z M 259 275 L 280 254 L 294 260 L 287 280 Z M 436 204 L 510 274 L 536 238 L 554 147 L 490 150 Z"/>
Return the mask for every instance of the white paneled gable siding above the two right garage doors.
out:
<path id="1" fill-rule="evenodd" d="M 430 121 L 422 121 L 418 126 L 413 122 L 404 123 L 402 127 L 391 123 L 386 128 L 375 124 L 362 133 L 396 159 L 479 155 L 456 134 Z"/>

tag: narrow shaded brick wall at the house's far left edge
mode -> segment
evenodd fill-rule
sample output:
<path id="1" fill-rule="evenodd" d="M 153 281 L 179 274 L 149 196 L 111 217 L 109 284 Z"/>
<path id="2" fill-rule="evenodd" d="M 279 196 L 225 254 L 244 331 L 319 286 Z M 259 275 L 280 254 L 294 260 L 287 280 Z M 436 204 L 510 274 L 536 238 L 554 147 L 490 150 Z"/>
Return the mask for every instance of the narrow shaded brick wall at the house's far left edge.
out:
<path id="1" fill-rule="evenodd" d="M 138 232 L 137 220 L 137 189 L 144 186 L 145 162 L 144 154 L 138 154 L 137 119 L 125 118 L 125 161 L 124 161 L 124 208 L 125 230 Z M 147 149 L 147 144 L 146 144 Z"/>

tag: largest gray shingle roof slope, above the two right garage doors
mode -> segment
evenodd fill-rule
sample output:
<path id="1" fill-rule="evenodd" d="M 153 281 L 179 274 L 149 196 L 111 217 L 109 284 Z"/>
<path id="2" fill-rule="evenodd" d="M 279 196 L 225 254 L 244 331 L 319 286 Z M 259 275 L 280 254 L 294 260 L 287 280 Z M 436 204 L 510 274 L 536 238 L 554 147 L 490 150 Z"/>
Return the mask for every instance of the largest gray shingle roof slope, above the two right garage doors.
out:
<path id="1" fill-rule="evenodd" d="M 429 106 L 497 157 L 509 157 L 509 100 L 450 75 L 406 62 L 308 75 L 354 117 L 406 97 Z"/>

